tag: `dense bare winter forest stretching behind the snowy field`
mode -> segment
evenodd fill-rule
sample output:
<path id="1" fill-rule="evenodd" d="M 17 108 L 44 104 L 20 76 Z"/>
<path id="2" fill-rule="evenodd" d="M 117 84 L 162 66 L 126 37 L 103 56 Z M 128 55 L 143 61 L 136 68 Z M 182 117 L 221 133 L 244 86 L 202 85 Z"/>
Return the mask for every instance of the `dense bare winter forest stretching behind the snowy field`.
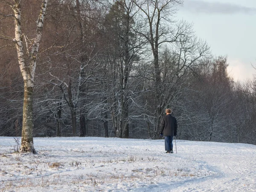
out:
<path id="1" fill-rule="evenodd" d="M 33 137 L 159 139 L 171 108 L 177 139 L 256 145 L 256 79 L 229 76 L 182 4 L 0 0 L 0 136 L 21 136 L 33 93 Z"/>

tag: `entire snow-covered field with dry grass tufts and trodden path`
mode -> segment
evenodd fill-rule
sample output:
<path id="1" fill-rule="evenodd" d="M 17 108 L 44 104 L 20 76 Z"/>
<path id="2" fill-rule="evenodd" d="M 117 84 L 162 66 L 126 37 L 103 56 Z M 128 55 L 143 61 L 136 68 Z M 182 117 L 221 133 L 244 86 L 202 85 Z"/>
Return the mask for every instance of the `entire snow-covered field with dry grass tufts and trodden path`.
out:
<path id="1" fill-rule="evenodd" d="M 38 154 L 0 137 L 3 192 L 256 192 L 256 145 L 99 137 L 34 138 Z M 175 146 L 175 143 L 174 143 Z"/>

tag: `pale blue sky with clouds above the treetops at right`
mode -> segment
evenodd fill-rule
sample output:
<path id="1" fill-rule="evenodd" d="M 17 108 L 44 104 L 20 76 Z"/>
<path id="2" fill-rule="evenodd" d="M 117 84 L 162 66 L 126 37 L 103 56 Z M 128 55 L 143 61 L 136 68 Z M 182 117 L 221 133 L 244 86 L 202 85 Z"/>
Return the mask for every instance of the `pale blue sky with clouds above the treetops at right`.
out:
<path id="1" fill-rule="evenodd" d="M 235 81 L 256 74 L 256 0 L 184 0 L 177 17 L 194 24 L 212 55 L 227 56 Z"/>

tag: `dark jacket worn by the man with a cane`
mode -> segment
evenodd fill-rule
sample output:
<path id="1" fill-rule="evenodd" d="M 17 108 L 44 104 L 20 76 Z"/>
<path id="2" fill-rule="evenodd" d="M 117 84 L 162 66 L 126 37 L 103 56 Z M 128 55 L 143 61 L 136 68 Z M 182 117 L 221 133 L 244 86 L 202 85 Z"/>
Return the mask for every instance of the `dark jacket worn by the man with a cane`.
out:
<path id="1" fill-rule="evenodd" d="M 160 133 L 163 136 L 176 136 L 177 135 L 177 120 L 171 114 L 164 116 L 160 123 Z"/>

